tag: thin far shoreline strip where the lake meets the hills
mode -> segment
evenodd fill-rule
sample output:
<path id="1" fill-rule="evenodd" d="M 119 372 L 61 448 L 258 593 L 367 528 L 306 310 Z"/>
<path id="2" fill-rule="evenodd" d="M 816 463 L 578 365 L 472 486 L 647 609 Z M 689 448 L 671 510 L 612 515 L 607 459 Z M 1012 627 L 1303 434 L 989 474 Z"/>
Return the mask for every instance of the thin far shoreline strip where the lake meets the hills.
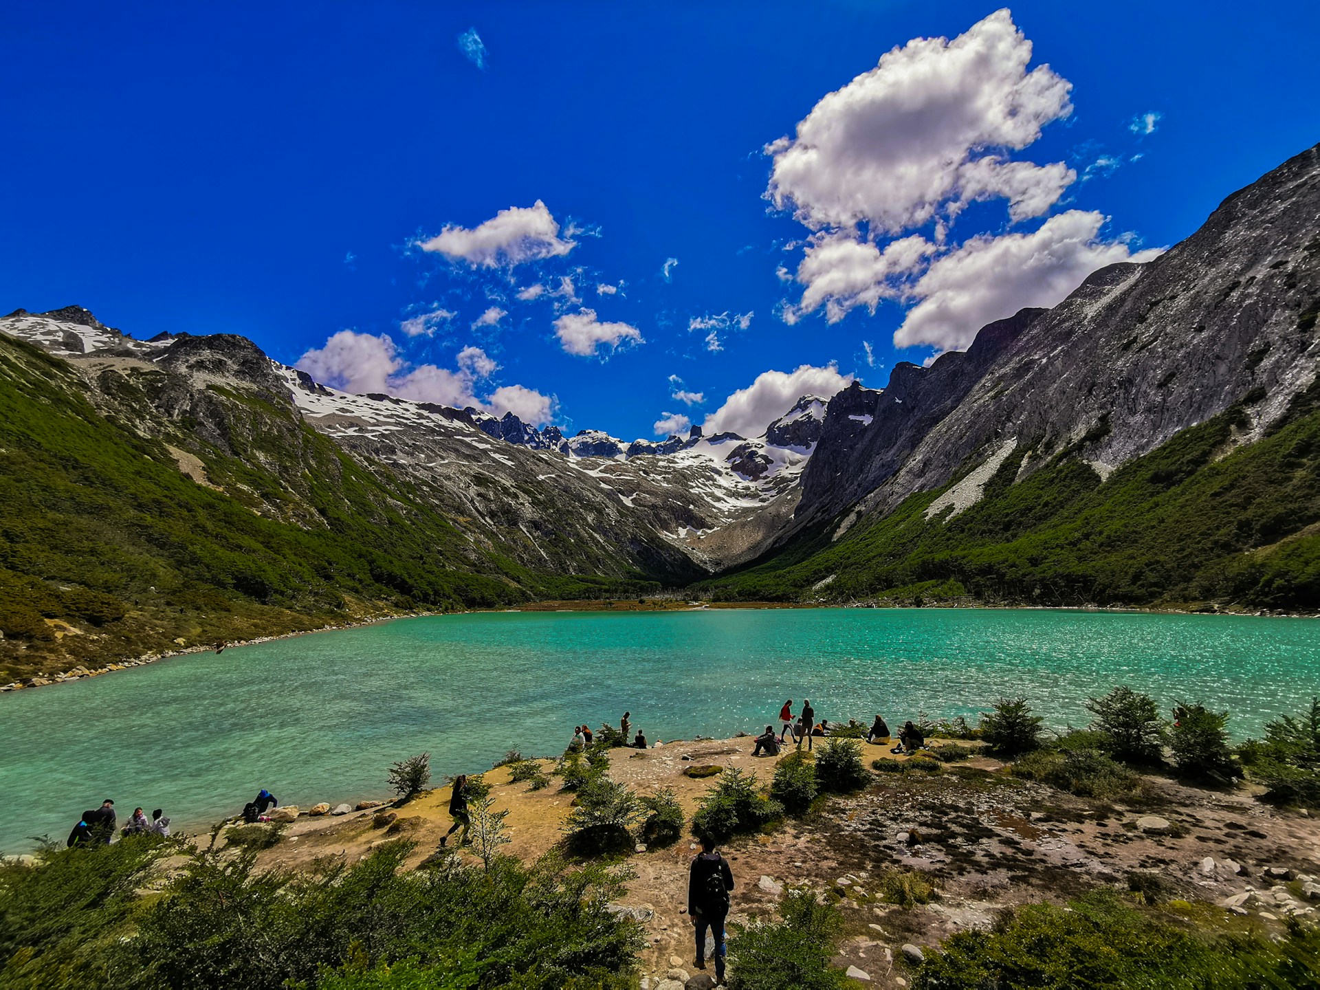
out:
<path id="1" fill-rule="evenodd" d="M 400 619 L 426 619 L 444 615 L 482 615 L 482 614 L 508 614 L 508 612 L 601 612 L 601 614 L 620 614 L 620 612 L 693 612 L 693 611 L 774 611 L 784 609 L 874 609 L 874 610 L 906 610 L 906 609 L 921 609 L 923 611 L 939 611 L 942 609 L 958 609 L 958 610 L 985 610 L 985 611 L 1061 611 L 1061 612 L 1113 612 L 1115 615 L 1213 615 L 1213 616 L 1229 616 L 1229 618 L 1246 618 L 1246 619 L 1320 619 L 1320 614 L 1309 612 L 1233 612 L 1233 611 L 1200 611 L 1193 609 L 1143 609 L 1139 606 L 1131 607 L 1118 607 L 1118 606 L 1092 606 L 1092 605 L 986 605 L 983 602 L 969 602 L 969 603 L 954 603 L 954 602 L 941 602 L 939 605 L 925 605 L 925 606 L 904 606 L 904 605 L 876 605 L 874 602 L 701 602 L 697 599 L 678 599 L 678 598 L 589 598 L 589 599 L 546 599 L 539 602 L 525 602 L 517 606 L 510 606 L 504 609 L 466 609 L 462 611 L 453 612 L 404 612 L 400 615 L 384 615 L 375 619 L 360 619 L 355 622 L 333 623 L 327 626 L 321 626 L 314 630 L 298 630 L 294 632 L 281 632 L 271 636 L 255 636 L 252 639 L 236 640 L 232 643 L 226 643 L 226 649 L 236 649 L 238 647 L 251 647 L 259 645 L 261 643 L 273 643 L 281 639 L 293 639 L 296 636 L 310 636 L 318 632 L 341 632 L 345 630 L 364 628 L 367 626 L 378 626 L 385 622 L 399 622 Z M 45 678 L 45 684 L 22 684 L 13 682 L 7 685 L 0 685 L 0 694 L 17 693 L 20 690 L 32 690 L 33 688 L 49 688 L 57 684 L 70 684 L 73 681 L 88 680 L 91 677 L 100 677 L 108 673 L 117 673 L 120 671 L 131 671 L 139 667 L 147 667 L 148 664 L 154 664 L 161 660 L 172 660 L 181 656 L 190 656 L 193 653 L 207 653 L 215 649 L 214 645 L 191 645 L 180 647 L 178 649 L 170 649 L 164 653 L 144 653 L 137 657 L 131 657 L 127 660 L 117 660 L 106 664 L 100 668 L 87 668 L 84 665 L 75 665 L 69 671 L 63 671 L 50 678 Z"/>

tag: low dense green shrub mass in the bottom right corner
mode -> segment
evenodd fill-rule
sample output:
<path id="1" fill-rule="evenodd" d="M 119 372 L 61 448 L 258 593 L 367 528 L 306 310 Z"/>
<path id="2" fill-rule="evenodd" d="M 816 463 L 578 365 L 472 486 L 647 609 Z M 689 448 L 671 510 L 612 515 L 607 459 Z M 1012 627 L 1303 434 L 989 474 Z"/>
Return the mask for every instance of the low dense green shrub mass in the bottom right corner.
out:
<path id="1" fill-rule="evenodd" d="M 1315 986 L 1320 929 L 1292 925 L 1278 944 L 1263 933 L 1188 933 L 1097 890 L 1067 907 L 1030 904 L 991 932 L 958 932 L 928 952 L 913 990 L 957 987 Z"/>

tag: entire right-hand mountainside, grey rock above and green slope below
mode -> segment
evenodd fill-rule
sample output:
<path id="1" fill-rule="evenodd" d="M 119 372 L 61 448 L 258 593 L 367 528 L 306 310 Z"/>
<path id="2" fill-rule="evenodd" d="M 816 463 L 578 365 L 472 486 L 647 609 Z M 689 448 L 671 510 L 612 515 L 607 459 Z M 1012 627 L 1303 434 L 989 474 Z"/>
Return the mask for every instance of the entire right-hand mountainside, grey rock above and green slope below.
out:
<path id="1" fill-rule="evenodd" d="M 1312 148 L 1155 261 L 841 392 L 777 548 L 702 586 L 1315 609 L 1317 313 Z"/>

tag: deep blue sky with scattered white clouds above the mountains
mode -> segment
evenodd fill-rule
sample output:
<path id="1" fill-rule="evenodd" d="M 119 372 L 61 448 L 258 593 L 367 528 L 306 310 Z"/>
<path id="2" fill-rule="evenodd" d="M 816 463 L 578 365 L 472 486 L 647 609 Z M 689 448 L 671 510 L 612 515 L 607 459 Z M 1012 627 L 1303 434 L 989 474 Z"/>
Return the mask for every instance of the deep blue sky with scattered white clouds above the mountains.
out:
<path id="1" fill-rule="evenodd" d="M 748 429 L 1320 140 L 1313 4 L 995 9 L 11 4 L 0 308 L 570 430 Z"/>

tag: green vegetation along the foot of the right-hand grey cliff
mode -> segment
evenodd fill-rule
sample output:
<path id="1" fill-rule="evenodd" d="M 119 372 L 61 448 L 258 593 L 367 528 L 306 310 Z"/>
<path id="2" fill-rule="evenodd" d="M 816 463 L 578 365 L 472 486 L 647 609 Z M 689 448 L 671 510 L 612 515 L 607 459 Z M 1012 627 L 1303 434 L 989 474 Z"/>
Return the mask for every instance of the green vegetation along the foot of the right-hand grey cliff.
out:
<path id="1" fill-rule="evenodd" d="M 1259 401 L 1261 396 L 1247 397 Z M 944 491 L 908 496 L 837 543 L 834 525 L 741 572 L 702 582 L 717 598 L 1158 605 L 1320 602 L 1320 385 L 1255 444 L 1236 405 L 1183 430 L 1107 480 L 1071 455 L 1015 483 L 1019 446 L 965 512 L 925 517 Z M 817 585 L 829 578 L 818 591 Z"/>

